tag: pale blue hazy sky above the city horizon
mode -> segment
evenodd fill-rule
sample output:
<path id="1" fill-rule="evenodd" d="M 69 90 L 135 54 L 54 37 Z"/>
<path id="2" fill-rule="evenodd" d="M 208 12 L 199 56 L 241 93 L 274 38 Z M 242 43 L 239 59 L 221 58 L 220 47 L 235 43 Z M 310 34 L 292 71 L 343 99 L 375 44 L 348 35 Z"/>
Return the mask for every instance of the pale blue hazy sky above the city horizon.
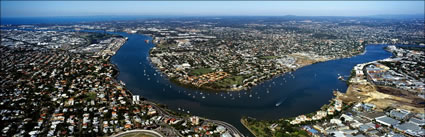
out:
<path id="1" fill-rule="evenodd" d="M 424 14 L 424 1 L 1 1 L 1 17 Z"/>

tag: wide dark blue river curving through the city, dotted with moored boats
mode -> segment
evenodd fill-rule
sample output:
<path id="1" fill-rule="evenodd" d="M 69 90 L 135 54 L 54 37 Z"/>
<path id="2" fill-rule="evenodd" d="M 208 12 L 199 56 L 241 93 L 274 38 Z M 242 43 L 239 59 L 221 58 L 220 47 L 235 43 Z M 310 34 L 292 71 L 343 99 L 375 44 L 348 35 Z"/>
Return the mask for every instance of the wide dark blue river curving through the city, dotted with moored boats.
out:
<path id="1" fill-rule="evenodd" d="M 314 112 L 329 102 L 333 90 L 347 89 L 346 83 L 337 79 L 338 74 L 347 78 L 356 64 L 391 56 L 383 50 L 386 45 L 368 45 L 365 54 L 312 64 L 247 91 L 211 92 L 180 87 L 161 76 L 148 59 L 149 49 L 154 45 L 145 40 L 151 37 L 118 34 L 129 39 L 111 62 L 119 68 L 118 80 L 126 83 L 135 95 L 165 104 L 174 111 L 228 122 L 247 135 L 248 130 L 240 124 L 242 116 L 271 120 Z"/>

